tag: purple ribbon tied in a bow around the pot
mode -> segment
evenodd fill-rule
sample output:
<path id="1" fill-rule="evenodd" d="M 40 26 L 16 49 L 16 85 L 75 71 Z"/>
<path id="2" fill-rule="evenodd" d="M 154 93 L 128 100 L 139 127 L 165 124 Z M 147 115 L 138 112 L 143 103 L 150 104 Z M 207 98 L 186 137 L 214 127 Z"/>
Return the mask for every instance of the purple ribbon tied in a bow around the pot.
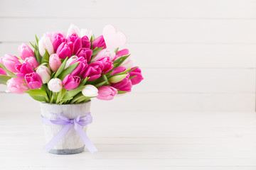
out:
<path id="1" fill-rule="evenodd" d="M 95 145 L 92 144 L 89 137 L 87 137 L 85 131 L 82 129 L 82 126 L 88 125 L 92 123 L 92 115 L 90 113 L 84 113 L 82 115 L 78 115 L 75 119 L 69 119 L 66 118 L 63 115 L 58 115 L 55 113 L 51 113 L 51 115 L 56 115 L 57 119 L 48 119 L 48 118 L 42 118 L 42 122 L 46 125 L 64 125 L 63 128 L 53 137 L 53 139 L 46 144 L 43 149 L 46 149 L 47 152 L 50 151 L 55 145 L 60 142 L 60 140 L 68 133 L 70 128 L 73 126 L 73 128 L 78 132 L 78 135 L 80 136 L 82 142 L 85 144 L 85 147 L 93 153 L 97 152 L 97 148 Z M 82 117 L 82 118 L 81 118 Z"/>

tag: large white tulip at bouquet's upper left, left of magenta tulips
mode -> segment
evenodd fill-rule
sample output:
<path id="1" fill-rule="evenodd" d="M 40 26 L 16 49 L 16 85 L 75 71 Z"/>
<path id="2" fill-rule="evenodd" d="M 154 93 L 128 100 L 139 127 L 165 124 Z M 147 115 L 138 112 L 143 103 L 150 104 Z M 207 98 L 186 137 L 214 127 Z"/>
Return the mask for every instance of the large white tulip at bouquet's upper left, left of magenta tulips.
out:
<path id="1" fill-rule="evenodd" d="M 50 38 L 43 36 L 41 40 L 38 41 L 38 48 L 39 48 L 39 53 L 43 57 L 44 53 L 47 52 L 49 55 L 53 54 L 53 43 L 50 41 Z"/>

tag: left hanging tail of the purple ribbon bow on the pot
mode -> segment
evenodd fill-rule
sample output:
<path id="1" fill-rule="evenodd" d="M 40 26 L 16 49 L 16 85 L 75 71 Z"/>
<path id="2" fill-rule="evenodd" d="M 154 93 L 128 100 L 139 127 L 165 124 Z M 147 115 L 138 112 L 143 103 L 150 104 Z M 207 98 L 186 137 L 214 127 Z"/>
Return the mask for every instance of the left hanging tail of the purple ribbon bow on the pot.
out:
<path id="1" fill-rule="evenodd" d="M 56 135 L 53 137 L 44 147 L 43 149 L 46 149 L 47 152 L 50 152 L 50 149 L 53 149 L 55 145 L 60 142 L 60 140 L 68 133 L 68 131 L 71 128 L 71 124 L 65 125 Z"/>

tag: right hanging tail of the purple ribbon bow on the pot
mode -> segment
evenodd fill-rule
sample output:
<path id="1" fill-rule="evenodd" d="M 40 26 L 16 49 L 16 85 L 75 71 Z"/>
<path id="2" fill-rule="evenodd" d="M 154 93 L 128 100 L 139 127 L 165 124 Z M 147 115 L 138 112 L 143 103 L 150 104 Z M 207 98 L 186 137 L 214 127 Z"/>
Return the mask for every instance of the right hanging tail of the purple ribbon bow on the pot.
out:
<path id="1" fill-rule="evenodd" d="M 93 152 L 97 152 L 97 148 L 92 144 L 89 137 L 86 135 L 85 131 L 81 128 L 80 125 L 76 125 L 75 130 L 78 132 L 82 142 L 85 144 L 85 147 L 93 154 Z"/>

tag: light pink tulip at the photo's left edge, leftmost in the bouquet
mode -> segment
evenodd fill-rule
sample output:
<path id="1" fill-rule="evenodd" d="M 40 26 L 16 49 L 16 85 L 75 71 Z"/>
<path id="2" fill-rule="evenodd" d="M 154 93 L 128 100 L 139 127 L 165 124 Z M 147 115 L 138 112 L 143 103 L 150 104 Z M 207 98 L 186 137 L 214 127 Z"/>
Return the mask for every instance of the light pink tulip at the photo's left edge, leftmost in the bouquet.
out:
<path id="1" fill-rule="evenodd" d="M 16 56 L 12 55 L 4 55 L 4 57 L 0 58 L 1 64 L 6 67 L 10 72 L 16 72 L 15 65 L 21 64 L 21 62 L 18 61 L 18 58 Z"/>

